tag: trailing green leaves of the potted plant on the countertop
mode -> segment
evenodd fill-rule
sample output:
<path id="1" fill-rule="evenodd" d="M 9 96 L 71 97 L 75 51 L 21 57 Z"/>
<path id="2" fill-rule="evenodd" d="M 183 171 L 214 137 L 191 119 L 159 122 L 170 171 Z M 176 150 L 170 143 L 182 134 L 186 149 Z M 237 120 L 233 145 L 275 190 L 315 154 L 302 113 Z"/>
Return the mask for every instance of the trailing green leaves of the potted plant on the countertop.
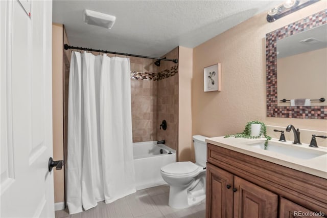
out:
<path id="1" fill-rule="evenodd" d="M 251 136 L 251 124 L 261 124 L 260 136 Z M 224 138 L 229 138 L 229 137 L 245 138 L 245 139 L 259 139 L 261 137 L 266 138 L 265 150 L 267 149 L 268 141 L 271 139 L 271 137 L 267 135 L 266 124 L 258 120 L 247 122 L 242 133 L 226 135 Z"/>

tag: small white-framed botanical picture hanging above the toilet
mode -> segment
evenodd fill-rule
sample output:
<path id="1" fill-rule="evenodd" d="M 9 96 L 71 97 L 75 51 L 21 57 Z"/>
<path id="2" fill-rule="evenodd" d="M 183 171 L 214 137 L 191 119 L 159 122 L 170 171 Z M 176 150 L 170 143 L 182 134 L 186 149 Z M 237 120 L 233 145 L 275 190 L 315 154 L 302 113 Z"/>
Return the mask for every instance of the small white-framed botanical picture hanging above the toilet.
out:
<path id="1" fill-rule="evenodd" d="M 221 91 L 220 65 L 217 63 L 204 68 L 204 92 Z"/>

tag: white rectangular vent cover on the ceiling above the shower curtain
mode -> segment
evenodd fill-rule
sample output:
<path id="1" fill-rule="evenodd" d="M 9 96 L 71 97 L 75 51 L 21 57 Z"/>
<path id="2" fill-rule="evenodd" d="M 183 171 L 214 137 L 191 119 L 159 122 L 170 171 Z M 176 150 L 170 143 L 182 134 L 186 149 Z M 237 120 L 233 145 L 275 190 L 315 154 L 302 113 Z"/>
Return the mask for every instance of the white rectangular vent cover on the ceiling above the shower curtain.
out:
<path id="1" fill-rule="evenodd" d="M 85 24 L 111 29 L 115 20 L 116 17 L 109 14 L 104 14 L 87 9 L 84 11 Z"/>

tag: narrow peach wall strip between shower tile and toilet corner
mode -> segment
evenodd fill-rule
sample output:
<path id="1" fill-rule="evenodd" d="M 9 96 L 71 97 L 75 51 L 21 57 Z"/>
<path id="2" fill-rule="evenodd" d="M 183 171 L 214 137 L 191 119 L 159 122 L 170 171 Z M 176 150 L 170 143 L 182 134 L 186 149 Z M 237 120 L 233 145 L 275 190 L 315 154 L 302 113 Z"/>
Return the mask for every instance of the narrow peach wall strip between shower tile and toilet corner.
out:
<path id="1" fill-rule="evenodd" d="M 179 47 L 178 54 L 178 161 L 195 161 L 192 146 L 193 49 Z"/>

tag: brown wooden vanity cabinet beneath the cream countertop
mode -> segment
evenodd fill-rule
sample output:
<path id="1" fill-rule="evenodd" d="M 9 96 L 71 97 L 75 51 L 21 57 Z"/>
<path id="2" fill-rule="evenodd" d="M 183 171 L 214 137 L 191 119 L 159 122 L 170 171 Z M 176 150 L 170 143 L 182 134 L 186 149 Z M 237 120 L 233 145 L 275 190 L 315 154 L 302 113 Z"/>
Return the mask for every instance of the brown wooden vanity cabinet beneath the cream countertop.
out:
<path id="1" fill-rule="evenodd" d="M 326 179 L 209 143 L 206 169 L 207 218 L 327 214 Z"/>

